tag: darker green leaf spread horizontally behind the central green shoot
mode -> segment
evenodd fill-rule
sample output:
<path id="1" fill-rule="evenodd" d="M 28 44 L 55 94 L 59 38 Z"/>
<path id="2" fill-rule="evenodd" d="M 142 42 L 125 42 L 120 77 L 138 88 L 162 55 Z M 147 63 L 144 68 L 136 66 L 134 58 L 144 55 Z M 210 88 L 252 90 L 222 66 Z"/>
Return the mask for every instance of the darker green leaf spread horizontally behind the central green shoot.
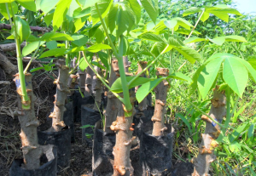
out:
<path id="1" fill-rule="evenodd" d="M 130 82 L 131 79 L 133 79 L 134 77 L 126 77 L 126 81 Z M 131 85 L 129 86 L 130 88 L 135 88 L 139 85 L 142 85 L 143 83 L 146 82 L 150 82 L 151 79 L 148 79 L 146 77 L 137 77 L 137 79 L 133 82 L 131 82 Z M 115 82 L 113 82 L 110 91 L 114 92 L 114 93 L 121 93 L 123 92 L 123 87 L 122 87 L 122 82 L 121 82 L 121 78 L 117 78 L 117 80 Z"/>

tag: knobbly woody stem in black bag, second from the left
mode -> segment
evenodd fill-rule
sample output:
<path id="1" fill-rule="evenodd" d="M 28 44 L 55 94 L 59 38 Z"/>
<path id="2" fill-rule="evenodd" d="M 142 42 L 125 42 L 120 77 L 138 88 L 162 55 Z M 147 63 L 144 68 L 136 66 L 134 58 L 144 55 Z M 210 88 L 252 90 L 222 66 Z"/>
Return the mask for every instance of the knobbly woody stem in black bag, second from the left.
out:
<path id="1" fill-rule="evenodd" d="M 52 120 L 52 131 L 61 131 L 66 125 L 63 122 L 63 114 L 66 111 L 65 101 L 67 98 L 67 94 L 69 93 L 67 89 L 68 82 L 68 67 L 65 65 L 65 62 L 59 61 L 59 77 L 55 80 L 55 84 L 57 84 L 57 91 L 55 94 L 55 108 L 52 113 L 50 113 L 49 117 L 53 118 Z"/>

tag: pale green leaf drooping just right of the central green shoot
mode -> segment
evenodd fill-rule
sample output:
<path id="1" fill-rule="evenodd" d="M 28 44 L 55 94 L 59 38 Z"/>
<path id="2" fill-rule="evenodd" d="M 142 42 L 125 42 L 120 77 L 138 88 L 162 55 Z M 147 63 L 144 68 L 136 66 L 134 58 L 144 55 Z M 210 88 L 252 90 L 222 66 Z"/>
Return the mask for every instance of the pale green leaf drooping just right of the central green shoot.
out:
<path id="1" fill-rule="evenodd" d="M 143 85 L 137 89 L 136 99 L 138 103 L 141 103 L 143 99 L 163 80 L 165 77 L 155 79 L 151 82 L 143 83 Z"/>

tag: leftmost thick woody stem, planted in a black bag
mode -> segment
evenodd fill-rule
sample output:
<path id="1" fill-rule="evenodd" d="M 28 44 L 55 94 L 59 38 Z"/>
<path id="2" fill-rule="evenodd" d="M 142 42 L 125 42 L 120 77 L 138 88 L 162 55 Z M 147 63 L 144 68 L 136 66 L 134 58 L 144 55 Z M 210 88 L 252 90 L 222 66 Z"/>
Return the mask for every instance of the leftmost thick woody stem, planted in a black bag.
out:
<path id="1" fill-rule="evenodd" d="M 26 169 L 33 170 L 40 167 L 40 156 L 42 155 L 42 150 L 38 145 L 38 131 L 37 127 L 39 125 L 38 119 L 35 115 L 34 101 L 35 96 L 32 93 L 32 75 L 26 74 L 26 92 L 31 100 L 31 109 L 24 110 L 21 105 L 21 90 L 20 90 L 20 77 L 19 74 L 15 75 L 15 83 L 18 93 L 18 111 L 15 114 L 18 115 L 20 121 L 20 139 L 22 143 L 22 153 Z"/>

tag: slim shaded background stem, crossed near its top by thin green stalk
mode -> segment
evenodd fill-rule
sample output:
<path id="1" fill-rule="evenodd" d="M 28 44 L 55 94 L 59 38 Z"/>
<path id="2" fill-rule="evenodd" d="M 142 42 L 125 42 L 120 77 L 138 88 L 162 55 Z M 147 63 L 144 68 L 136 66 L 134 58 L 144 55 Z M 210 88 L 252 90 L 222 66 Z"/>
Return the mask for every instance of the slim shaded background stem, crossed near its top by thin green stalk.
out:
<path id="1" fill-rule="evenodd" d="M 96 71 L 97 73 L 102 77 L 103 74 L 102 74 L 102 71 L 99 67 L 96 66 Z M 95 111 L 100 111 L 100 107 L 101 107 L 101 103 L 102 103 L 102 81 L 95 75 L 96 77 L 96 85 L 95 85 L 95 88 L 94 88 L 94 91 L 95 91 L 95 104 L 94 104 L 94 107 L 93 109 Z"/>

